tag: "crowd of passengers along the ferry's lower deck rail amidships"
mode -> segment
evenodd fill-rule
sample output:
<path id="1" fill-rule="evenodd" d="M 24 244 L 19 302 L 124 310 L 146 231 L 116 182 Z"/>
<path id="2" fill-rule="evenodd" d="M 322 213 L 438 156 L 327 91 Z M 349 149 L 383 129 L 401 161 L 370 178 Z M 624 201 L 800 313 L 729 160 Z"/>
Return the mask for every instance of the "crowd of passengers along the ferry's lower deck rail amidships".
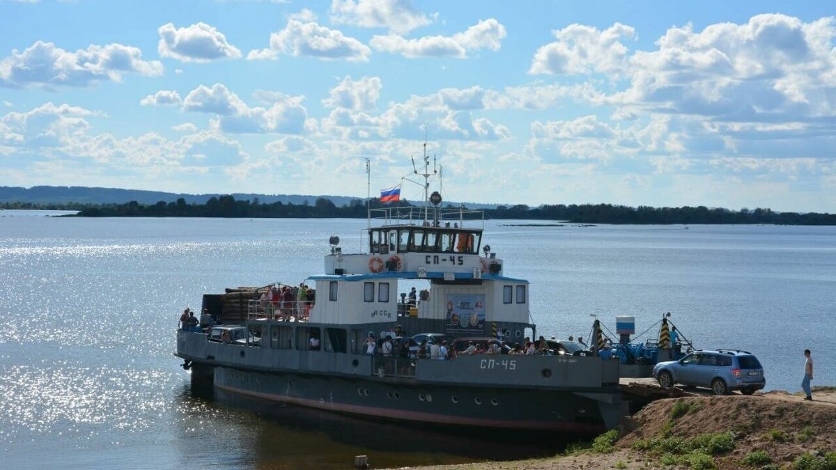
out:
<path id="1" fill-rule="evenodd" d="M 435 344 L 422 340 L 418 349 L 410 350 L 410 338 L 406 337 L 400 324 L 395 327 L 393 335 L 381 333 L 378 339 L 374 332 L 364 340 L 363 349 L 366 355 L 382 355 L 383 357 L 400 357 L 410 359 L 431 359 L 431 360 L 452 360 L 459 355 L 555 355 L 557 351 L 552 350 L 546 338 L 540 336 L 535 342 L 528 336 L 523 344 L 514 343 L 511 345 L 505 340 L 491 340 L 483 346 L 480 341 L 468 341 L 465 350 L 456 351 L 447 340 Z M 554 338 L 552 338 L 554 340 Z M 578 338 L 582 345 L 583 338 Z"/>

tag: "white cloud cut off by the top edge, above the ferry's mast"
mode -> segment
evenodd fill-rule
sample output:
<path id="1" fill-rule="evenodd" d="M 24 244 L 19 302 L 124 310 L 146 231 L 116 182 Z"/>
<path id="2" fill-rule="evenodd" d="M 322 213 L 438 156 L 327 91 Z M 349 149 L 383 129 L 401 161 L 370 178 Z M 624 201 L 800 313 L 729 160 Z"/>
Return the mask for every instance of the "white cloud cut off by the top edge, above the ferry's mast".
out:
<path id="1" fill-rule="evenodd" d="M 389 28 L 399 34 L 431 23 L 410 0 L 334 0 L 331 22 L 362 28 Z"/>

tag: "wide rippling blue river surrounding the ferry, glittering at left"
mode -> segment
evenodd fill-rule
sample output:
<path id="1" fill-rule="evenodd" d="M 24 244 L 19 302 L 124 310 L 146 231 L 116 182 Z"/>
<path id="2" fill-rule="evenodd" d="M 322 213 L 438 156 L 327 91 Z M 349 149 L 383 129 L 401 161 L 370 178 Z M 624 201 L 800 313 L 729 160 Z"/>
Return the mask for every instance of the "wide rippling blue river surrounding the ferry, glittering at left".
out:
<path id="1" fill-rule="evenodd" d="M 555 451 L 191 389 L 172 356 L 183 308 L 321 273 L 329 236 L 355 252 L 363 220 L 42 215 L 0 212 L 3 467 L 347 468 L 358 454 L 383 467 Z M 586 336 L 591 314 L 610 328 L 634 315 L 640 332 L 671 312 L 698 347 L 757 354 L 768 389 L 798 391 L 805 348 L 814 385 L 836 384 L 836 227 L 508 223 L 519 222 L 487 222 L 483 243 L 531 281 L 538 334 Z"/>

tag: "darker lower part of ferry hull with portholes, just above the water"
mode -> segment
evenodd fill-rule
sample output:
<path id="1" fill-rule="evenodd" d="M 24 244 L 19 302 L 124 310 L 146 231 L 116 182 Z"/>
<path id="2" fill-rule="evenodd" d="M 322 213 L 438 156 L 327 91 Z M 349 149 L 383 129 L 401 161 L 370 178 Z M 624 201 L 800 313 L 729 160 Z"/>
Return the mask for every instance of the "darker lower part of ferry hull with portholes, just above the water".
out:
<path id="1" fill-rule="evenodd" d="M 217 367 L 214 385 L 266 400 L 358 416 L 432 425 L 552 432 L 602 432 L 612 405 L 569 391 L 421 385 Z"/>

